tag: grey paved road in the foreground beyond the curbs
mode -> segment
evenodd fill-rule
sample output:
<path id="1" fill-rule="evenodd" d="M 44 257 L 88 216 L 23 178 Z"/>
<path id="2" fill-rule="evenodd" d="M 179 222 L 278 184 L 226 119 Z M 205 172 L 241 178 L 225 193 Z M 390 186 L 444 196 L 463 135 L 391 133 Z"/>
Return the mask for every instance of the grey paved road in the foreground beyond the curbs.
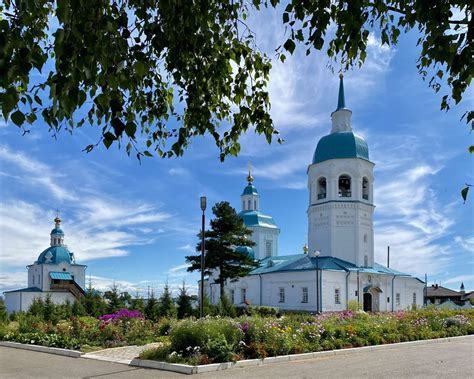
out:
<path id="1" fill-rule="evenodd" d="M 0 378 L 185 378 L 172 372 L 0 347 Z M 474 378 L 474 336 L 429 345 L 205 373 L 191 378 Z"/>

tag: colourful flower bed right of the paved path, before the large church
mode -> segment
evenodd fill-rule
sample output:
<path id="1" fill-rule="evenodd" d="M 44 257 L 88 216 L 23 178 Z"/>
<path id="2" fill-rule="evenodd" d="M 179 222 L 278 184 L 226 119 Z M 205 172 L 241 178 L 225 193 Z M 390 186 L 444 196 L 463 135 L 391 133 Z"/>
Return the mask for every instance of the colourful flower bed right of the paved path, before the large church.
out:
<path id="1" fill-rule="evenodd" d="M 205 318 L 176 322 L 169 338 L 140 358 L 209 364 L 474 334 L 474 311 L 426 309 L 319 316 Z"/>

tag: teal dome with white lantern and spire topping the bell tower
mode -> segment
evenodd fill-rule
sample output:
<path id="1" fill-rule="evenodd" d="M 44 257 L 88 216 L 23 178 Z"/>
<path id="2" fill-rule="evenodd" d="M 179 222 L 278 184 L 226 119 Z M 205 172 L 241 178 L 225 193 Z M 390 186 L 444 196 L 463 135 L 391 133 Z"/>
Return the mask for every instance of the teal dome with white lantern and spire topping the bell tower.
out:
<path id="1" fill-rule="evenodd" d="M 329 159 L 361 158 L 369 160 L 367 142 L 352 131 L 352 111 L 346 108 L 344 77 L 339 75 L 337 108 L 331 114 L 331 133 L 321 138 L 313 155 L 313 164 Z"/>

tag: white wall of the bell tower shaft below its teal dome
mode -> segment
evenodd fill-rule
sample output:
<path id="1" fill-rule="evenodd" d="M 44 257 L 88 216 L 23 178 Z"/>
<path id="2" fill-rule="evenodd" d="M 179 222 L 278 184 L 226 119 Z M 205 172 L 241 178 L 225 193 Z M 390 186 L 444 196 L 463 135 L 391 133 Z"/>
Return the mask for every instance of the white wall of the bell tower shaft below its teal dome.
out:
<path id="1" fill-rule="evenodd" d="M 364 266 L 374 262 L 373 168 L 363 159 L 331 159 L 308 168 L 308 246 L 323 256 L 333 256 Z M 351 197 L 339 197 L 341 175 L 351 177 Z M 318 199 L 318 181 L 326 178 L 326 198 Z M 362 198 L 362 180 L 369 180 L 369 198 Z M 356 202 L 354 202 L 356 201 Z M 366 238 L 364 239 L 364 236 Z"/>

